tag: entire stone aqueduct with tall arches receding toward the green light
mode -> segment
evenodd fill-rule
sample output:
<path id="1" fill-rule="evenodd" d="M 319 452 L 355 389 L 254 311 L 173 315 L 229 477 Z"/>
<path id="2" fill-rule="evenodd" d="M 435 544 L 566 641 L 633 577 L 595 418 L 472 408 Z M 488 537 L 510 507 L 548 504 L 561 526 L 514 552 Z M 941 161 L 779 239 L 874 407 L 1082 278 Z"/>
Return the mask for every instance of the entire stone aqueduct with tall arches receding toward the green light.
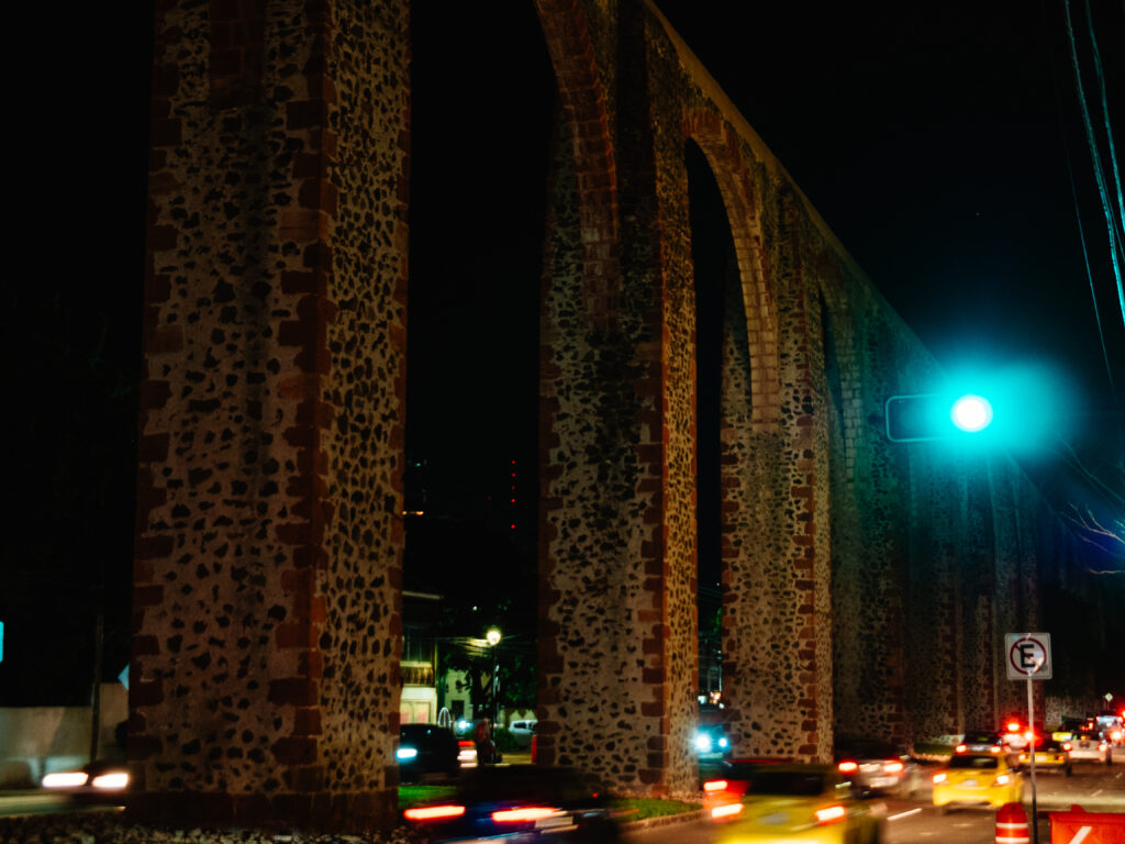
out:
<path id="1" fill-rule="evenodd" d="M 991 719 L 1059 526 L 1001 458 L 894 450 L 937 368 L 642 0 L 534 0 L 558 86 L 541 284 L 540 756 L 695 788 L 685 144 L 737 257 L 721 395 L 741 753 Z M 394 815 L 407 0 L 161 0 L 129 753 L 142 808 Z M 622 62 L 621 56 L 629 61 Z M 999 600 L 998 596 L 1004 596 Z"/>

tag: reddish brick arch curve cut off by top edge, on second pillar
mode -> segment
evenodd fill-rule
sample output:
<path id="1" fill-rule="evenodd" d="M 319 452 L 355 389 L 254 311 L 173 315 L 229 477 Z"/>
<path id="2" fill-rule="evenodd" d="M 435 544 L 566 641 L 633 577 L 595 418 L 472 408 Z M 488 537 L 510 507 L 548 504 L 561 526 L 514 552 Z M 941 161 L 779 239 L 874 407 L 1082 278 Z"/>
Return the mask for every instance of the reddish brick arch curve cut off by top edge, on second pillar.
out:
<path id="1" fill-rule="evenodd" d="M 580 0 L 536 0 L 578 181 L 584 299 L 595 327 L 616 323 L 621 297 L 616 160 L 590 21 Z"/>

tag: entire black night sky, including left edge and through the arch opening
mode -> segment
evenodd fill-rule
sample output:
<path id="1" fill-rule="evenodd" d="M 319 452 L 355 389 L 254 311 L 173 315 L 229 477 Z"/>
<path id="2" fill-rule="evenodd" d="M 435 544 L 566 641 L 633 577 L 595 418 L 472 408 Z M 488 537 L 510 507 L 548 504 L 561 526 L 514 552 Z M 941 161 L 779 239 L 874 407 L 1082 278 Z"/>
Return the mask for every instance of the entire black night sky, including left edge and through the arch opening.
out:
<path id="1" fill-rule="evenodd" d="M 1120 410 L 1125 327 L 1060 0 L 657 5 L 947 368 L 1042 360 L 1064 372 L 1076 410 Z M 1071 0 L 1097 119 L 1086 8 Z M 1090 8 L 1125 133 L 1125 12 L 1119 0 Z M 99 580 L 107 672 L 127 645 L 151 21 L 146 10 L 108 32 L 93 10 L 72 15 L 86 16 L 66 27 L 72 48 L 11 110 L 29 127 L 17 252 L 39 260 L 3 286 L 19 482 L 0 578 L 0 613 L 65 635 L 14 638 L 9 622 L 0 704 L 81 702 Z M 477 526 L 515 459 L 514 514 L 531 526 L 551 71 L 528 0 L 418 0 L 414 26 L 407 449 L 426 461 L 433 512 Z M 1120 456 L 1122 417 L 1094 419 L 1088 440 Z"/>

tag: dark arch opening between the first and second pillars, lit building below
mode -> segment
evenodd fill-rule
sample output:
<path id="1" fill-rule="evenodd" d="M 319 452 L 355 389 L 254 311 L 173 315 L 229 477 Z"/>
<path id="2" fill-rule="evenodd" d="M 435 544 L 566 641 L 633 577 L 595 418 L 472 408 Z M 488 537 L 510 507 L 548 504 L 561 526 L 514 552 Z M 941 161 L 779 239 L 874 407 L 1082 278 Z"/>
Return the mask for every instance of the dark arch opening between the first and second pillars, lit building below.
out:
<path id="1" fill-rule="evenodd" d="M 555 75 L 529 3 L 414 3 L 411 28 L 403 676 L 422 688 L 400 715 L 506 725 L 536 707 Z"/>

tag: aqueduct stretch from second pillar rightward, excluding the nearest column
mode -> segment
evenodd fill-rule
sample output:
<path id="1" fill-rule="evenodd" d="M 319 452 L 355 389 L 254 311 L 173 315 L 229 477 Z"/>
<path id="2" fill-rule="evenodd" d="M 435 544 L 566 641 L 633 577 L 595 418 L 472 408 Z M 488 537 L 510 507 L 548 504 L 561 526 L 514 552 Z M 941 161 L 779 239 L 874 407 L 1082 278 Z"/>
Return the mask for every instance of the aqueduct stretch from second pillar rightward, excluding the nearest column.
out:
<path id="1" fill-rule="evenodd" d="M 1002 456 L 886 441 L 886 397 L 934 389 L 939 368 L 651 3 L 538 6 L 561 102 L 541 331 L 543 758 L 585 761 L 619 790 L 691 787 L 688 141 L 738 267 L 720 458 L 736 752 L 826 760 L 840 734 L 993 722 L 1012 691 L 1004 632 L 1036 619 L 1043 560 L 1022 526 L 1042 502 Z"/>

